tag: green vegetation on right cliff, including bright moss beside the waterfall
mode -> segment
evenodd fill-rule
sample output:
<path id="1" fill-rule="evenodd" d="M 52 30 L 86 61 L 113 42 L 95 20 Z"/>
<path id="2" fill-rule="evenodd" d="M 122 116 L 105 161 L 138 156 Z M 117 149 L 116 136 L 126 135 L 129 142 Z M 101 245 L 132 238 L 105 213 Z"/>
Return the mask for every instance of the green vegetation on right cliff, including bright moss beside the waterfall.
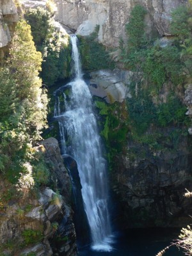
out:
<path id="1" fill-rule="evenodd" d="M 184 12 L 182 22 L 177 17 L 180 12 Z M 100 134 L 106 141 L 108 159 L 113 169 L 115 156 L 125 152 L 127 141 L 131 145 L 129 158 L 132 161 L 136 156 L 145 157 L 148 150 L 152 157 L 156 157 L 159 150 L 177 150 L 180 141 L 188 136 L 191 122 L 183 104 L 184 86 L 190 81 L 192 67 L 189 54 L 191 11 L 186 12 L 186 7 L 182 6 L 173 12 L 172 31 L 178 37 L 175 40 L 172 38 L 166 47 L 162 47 L 158 40 L 155 44 L 148 40 L 150 36 L 145 33 L 146 14 L 143 6 L 132 9 L 126 26 L 127 42 L 120 42 L 121 61 L 125 68 L 134 72 L 130 86 L 132 97 L 126 100 L 126 104 L 109 105 L 101 100 L 96 101 L 101 115 Z M 90 58 L 86 54 L 86 47 L 83 47 L 86 56 L 84 63 Z M 87 62 L 92 70 L 93 65 L 89 64 Z"/>

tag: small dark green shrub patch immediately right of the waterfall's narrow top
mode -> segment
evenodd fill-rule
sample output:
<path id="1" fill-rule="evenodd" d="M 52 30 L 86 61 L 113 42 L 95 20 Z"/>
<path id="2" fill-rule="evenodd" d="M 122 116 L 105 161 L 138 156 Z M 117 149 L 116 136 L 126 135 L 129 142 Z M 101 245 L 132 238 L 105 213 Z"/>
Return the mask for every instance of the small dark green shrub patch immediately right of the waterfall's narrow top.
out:
<path id="1" fill-rule="evenodd" d="M 96 26 L 95 31 L 90 36 L 79 36 L 79 49 L 81 53 L 81 62 L 83 69 L 86 71 L 99 70 L 102 68 L 115 67 L 114 62 L 109 56 L 104 45 L 99 44 L 97 35 L 99 26 Z"/>

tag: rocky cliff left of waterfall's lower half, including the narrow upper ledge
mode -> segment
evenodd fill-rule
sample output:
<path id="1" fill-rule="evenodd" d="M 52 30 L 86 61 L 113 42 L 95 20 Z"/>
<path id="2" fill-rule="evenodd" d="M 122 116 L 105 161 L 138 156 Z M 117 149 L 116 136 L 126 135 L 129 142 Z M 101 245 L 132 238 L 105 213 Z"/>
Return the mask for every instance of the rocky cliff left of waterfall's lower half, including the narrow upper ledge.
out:
<path id="1" fill-rule="evenodd" d="M 63 165 L 58 141 L 50 138 L 43 143 L 45 159 L 52 166 L 53 179 L 56 180 L 57 175 L 62 179 L 58 188 L 61 188 L 63 196 L 50 188 L 42 188 L 36 191 L 38 196 L 31 194 L 26 198 L 8 198 L 6 205 L 2 205 L 0 200 L 0 241 L 4 248 L 3 255 L 28 255 L 32 252 L 38 256 L 77 255 L 73 212 L 66 203 L 70 191 L 67 170 Z M 1 182 L 0 191 L 6 191 L 5 186 Z M 7 192 L 2 193 L 0 198 L 4 198 L 4 195 Z M 10 249 L 6 246 L 9 241 L 13 243 Z M 14 254 L 16 251 L 20 254 Z"/>

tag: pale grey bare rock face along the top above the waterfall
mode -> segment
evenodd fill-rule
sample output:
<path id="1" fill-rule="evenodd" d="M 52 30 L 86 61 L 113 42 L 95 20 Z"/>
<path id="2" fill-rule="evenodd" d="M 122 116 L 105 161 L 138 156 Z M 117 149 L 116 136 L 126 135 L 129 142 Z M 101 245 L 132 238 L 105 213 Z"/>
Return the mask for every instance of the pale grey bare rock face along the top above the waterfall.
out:
<path id="1" fill-rule="evenodd" d="M 156 29 L 160 35 L 170 35 L 170 13 L 187 0 L 54 0 L 58 6 L 56 19 L 79 35 L 90 35 L 96 25 L 100 26 L 99 41 L 117 47 L 119 38 L 125 36 L 125 24 L 136 4 L 147 8 L 148 32 Z"/>

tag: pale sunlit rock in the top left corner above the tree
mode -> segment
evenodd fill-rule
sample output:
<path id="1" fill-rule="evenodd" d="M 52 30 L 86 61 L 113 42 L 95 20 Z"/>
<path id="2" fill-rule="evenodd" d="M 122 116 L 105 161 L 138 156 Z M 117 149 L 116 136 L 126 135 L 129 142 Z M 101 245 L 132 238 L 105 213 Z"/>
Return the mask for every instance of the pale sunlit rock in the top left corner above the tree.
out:
<path id="1" fill-rule="evenodd" d="M 15 23 L 19 17 L 13 0 L 0 0 L 0 58 L 5 47 L 11 42 Z"/>

